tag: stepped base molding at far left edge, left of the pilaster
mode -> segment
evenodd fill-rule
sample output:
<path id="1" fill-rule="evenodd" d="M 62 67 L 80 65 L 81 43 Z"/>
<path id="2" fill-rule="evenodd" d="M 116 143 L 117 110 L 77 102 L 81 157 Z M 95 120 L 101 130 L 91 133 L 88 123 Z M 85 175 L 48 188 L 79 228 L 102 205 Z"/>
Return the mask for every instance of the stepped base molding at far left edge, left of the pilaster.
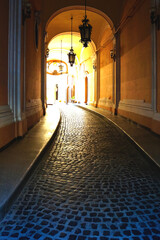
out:
<path id="1" fill-rule="evenodd" d="M 0 106 L 0 127 L 5 127 L 14 122 L 14 115 L 9 105 Z"/>

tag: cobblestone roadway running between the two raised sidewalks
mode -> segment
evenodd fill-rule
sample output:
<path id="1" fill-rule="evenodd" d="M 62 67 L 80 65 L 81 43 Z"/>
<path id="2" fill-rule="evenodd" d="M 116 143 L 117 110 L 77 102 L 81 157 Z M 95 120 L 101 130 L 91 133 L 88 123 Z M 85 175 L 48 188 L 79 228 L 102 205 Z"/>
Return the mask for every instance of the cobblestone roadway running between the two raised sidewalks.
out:
<path id="1" fill-rule="evenodd" d="M 159 240 L 160 171 L 110 122 L 62 106 L 52 149 L 1 222 L 0 239 Z"/>

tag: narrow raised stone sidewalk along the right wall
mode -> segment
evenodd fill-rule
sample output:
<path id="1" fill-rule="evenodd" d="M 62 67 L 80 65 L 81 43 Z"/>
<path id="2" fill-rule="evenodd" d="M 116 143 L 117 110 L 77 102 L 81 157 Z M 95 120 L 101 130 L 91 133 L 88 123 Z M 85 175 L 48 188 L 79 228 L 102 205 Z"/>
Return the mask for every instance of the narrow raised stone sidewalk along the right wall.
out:
<path id="1" fill-rule="evenodd" d="M 102 108 L 95 108 L 90 105 L 78 105 L 81 108 L 92 111 L 103 119 L 108 119 L 120 128 L 133 143 L 142 150 L 145 156 L 152 159 L 160 167 L 160 136 L 154 134 L 149 129 L 140 126 L 129 119 L 119 115 L 113 115 Z"/>

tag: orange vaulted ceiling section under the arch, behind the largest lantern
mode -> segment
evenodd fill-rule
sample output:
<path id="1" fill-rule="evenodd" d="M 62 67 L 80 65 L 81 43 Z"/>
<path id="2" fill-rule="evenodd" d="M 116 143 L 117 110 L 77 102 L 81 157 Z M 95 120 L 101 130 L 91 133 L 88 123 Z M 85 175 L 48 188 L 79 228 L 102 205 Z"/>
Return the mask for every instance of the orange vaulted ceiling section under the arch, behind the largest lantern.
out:
<path id="1" fill-rule="evenodd" d="M 49 22 L 46 28 L 48 43 L 59 34 L 70 33 L 71 16 L 73 17 L 73 32 L 79 34 L 79 25 L 82 24 L 84 10 L 68 10 L 58 14 Z M 98 47 L 104 32 L 108 32 L 108 37 L 112 35 L 111 27 L 107 20 L 98 13 L 87 11 L 87 17 L 92 25 L 92 41 Z"/>

